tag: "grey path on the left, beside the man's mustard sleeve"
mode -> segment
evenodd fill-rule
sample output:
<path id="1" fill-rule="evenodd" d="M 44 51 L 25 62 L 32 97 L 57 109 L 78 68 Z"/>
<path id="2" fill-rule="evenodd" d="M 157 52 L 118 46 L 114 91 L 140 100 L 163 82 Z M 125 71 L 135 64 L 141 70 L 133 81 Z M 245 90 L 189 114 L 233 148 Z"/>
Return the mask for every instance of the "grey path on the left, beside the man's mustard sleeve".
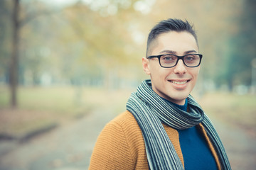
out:
<path id="1" fill-rule="evenodd" d="M 95 111 L 26 143 L 0 158 L 1 170 L 87 169 L 97 135 L 114 115 Z"/>

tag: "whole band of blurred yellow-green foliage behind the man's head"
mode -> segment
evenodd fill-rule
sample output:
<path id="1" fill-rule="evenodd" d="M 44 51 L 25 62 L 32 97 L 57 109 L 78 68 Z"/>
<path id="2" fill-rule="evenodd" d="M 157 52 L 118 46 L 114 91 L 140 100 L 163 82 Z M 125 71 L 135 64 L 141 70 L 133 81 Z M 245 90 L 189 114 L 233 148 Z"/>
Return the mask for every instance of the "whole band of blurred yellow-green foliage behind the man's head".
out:
<path id="1" fill-rule="evenodd" d="M 0 9 L 1 79 L 9 74 L 10 1 L 1 1 Z M 254 9 L 250 0 L 97 0 L 62 8 L 21 1 L 20 83 L 42 84 L 42 77 L 52 84 L 141 81 L 149 30 L 162 19 L 181 18 L 193 22 L 198 32 L 203 79 L 231 88 L 250 85 Z"/>

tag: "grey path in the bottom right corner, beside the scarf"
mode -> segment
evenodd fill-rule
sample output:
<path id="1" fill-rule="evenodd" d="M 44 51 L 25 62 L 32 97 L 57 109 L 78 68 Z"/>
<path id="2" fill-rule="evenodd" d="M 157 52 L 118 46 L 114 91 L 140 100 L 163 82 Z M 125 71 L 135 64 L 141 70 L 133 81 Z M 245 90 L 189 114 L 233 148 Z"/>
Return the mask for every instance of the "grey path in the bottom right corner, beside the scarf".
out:
<path id="1" fill-rule="evenodd" d="M 212 119 L 233 170 L 256 169 L 256 139 L 236 125 Z"/>

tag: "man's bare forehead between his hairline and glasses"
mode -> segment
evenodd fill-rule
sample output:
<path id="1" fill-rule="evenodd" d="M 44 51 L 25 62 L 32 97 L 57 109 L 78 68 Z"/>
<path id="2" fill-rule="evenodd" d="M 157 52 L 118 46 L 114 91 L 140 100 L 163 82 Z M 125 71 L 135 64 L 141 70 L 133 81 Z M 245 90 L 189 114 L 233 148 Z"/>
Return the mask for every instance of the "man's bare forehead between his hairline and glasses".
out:
<path id="1" fill-rule="evenodd" d="M 198 52 L 198 45 L 196 39 L 188 32 L 170 31 L 168 33 L 161 33 L 155 40 L 151 47 L 152 55 L 159 55 L 164 50 L 171 50 L 177 54 L 194 50 Z"/>

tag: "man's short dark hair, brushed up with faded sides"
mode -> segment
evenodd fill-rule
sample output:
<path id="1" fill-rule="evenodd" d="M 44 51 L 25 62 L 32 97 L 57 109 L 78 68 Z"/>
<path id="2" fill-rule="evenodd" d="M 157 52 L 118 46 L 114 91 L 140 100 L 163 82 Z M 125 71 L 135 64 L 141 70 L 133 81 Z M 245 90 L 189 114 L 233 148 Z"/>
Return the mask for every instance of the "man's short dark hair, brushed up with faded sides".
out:
<path id="1" fill-rule="evenodd" d="M 198 45 L 198 39 L 196 35 L 196 31 L 193 29 L 193 25 L 188 23 L 188 21 L 182 21 L 180 19 L 172 19 L 169 18 L 167 20 L 160 21 L 149 33 L 149 37 L 146 45 L 146 56 L 149 55 L 151 43 L 156 40 L 156 38 L 162 34 L 167 33 L 169 31 L 182 32 L 186 31 L 191 33 L 193 37 L 196 39 L 196 44 Z"/>

